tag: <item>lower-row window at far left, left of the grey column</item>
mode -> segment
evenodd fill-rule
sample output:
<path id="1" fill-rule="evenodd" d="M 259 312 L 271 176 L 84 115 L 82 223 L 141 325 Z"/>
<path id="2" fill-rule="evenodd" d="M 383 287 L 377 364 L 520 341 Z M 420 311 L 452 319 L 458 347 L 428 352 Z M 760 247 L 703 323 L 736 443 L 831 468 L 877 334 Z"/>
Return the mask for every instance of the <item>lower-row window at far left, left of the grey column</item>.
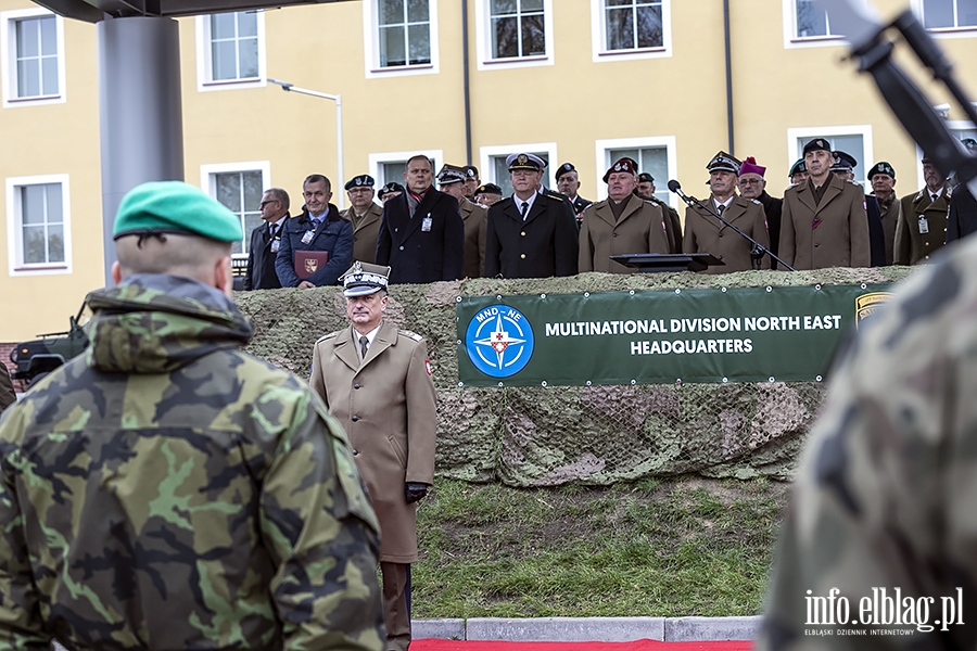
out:
<path id="1" fill-rule="evenodd" d="M 68 270 L 67 175 L 7 179 L 11 272 Z"/>

